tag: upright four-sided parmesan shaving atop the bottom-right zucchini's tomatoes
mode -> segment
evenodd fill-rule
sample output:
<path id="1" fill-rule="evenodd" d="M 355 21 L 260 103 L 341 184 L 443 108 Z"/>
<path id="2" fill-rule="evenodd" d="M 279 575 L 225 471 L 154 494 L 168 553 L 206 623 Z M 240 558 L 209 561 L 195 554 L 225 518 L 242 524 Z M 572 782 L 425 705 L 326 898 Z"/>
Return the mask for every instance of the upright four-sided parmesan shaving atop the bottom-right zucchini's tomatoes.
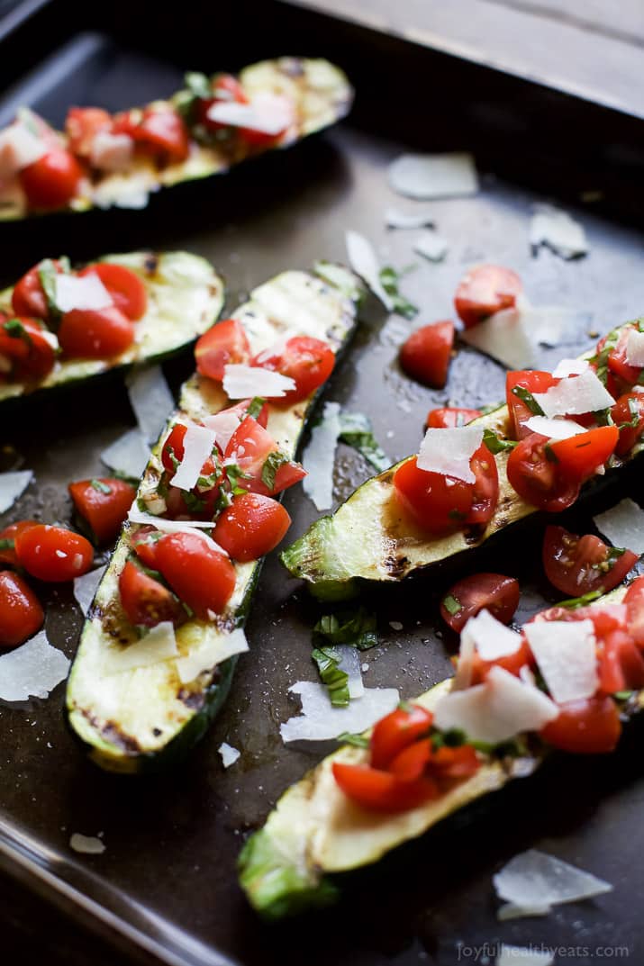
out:
<path id="1" fill-rule="evenodd" d="M 540 620 L 526 624 L 524 632 L 555 701 L 595 694 L 600 680 L 592 620 Z"/>

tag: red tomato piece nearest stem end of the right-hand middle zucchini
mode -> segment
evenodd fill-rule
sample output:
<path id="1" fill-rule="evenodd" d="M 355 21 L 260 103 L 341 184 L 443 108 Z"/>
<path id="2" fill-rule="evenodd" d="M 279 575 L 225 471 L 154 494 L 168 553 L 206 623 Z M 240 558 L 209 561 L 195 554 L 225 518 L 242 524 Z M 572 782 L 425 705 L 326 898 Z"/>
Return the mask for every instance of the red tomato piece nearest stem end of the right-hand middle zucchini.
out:
<path id="1" fill-rule="evenodd" d="M 394 489 L 400 505 L 428 533 L 449 533 L 462 526 L 483 526 L 499 497 L 494 457 L 481 445 L 470 460 L 476 482 L 419 469 L 416 457 L 395 471 Z"/>

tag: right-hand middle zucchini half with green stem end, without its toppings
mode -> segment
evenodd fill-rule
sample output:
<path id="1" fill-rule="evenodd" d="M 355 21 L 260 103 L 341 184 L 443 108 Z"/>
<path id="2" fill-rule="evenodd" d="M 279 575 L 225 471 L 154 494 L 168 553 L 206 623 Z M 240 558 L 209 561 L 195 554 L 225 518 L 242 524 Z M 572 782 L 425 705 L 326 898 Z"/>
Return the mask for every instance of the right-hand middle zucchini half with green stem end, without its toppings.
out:
<path id="1" fill-rule="evenodd" d="M 602 340 L 606 344 L 602 346 L 603 369 L 599 352 L 595 356 L 593 353 L 582 356 L 584 360 L 600 359 L 598 373 L 604 384 L 608 349 L 617 345 L 634 325 L 629 323 L 613 329 Z M 544 375 L 549 378 L 549 374 Z M 631 383 L 636 378 L 635 375 Z M 624 388 L 621 391 L 624 392 Z M 626 412 L 628 419 L 634 419 L 634 426 L 638 418 L 635 411 L 627 408 Z M 530 415 L 530 412 L 527 414 Z M 498 501 L 485 525 L 463 526 L 442 536 L 429 536 L 426 530 L 417 526 L 412 517 L 403 512 L 395 497 L 395 473 L 413 459 L 407 457 L 391 469 L 366 480 L 332 516 L 321 517 L 309 526 L 302 537 L 282 552 L 281 562 L 293 577 L 305 580 L 315 596 L 341 599 L 355 593 L 360 581 L 401 581 L 425 567 L 474 549 L 512 524 L 537 513 L 537 506 L 520 497 L 508 479 L 509 451 L 515 444 L 512 441 L 511 419 L 509 408 L 505 405 L 468 423 L 468 427 L 483 429 L 483 441 L 486 437 L 490 439 L 488 434 L 493 434 L 496 438 L 493 449 L 499 450 L 493 457 L 498 472 Z M 643 424 L 641 421 L 637 423 L 639 433 Z M 628 453 L 610 457 L 606 472 L 618 471 L 643 448 L 644 442 L 640 437 L 631 445 Z M 587 482 L 582 493 L 591 485 Z"/>

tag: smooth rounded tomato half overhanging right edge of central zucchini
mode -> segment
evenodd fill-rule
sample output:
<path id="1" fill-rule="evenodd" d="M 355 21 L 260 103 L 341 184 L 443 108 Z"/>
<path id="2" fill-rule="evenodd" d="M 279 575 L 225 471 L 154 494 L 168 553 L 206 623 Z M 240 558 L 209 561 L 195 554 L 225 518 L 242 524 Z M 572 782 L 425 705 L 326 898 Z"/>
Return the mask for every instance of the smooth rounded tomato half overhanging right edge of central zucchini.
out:
<path id="1" fill-rule="evenodd" d="M 213 537 L 233 560 L 247 563 L 277 547 L 290 525 L 291 518 L 277 500 L 247 493 L 234 497 L 220 514 Z"/>

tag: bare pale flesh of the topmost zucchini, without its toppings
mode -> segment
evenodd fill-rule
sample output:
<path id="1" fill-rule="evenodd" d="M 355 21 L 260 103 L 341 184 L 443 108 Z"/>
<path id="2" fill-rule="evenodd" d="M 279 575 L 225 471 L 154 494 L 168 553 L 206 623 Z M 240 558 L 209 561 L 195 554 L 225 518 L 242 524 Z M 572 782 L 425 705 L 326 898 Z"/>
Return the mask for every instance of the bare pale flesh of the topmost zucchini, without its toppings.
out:
<path id="1" fill-rule="evenodd" d="M 336 124 L 351 107 L 353 91 L 346 75 L 334 64 L 322 59 L 280 57 L 245 68 L 239 80 L 251 97 L 260 92 L 288 95 L 296 107 L 296 123 L 291 136 L 276 147 L 286 148 L 309 134 Z M 181 99 L 178 92 L 171 100 Z M 163 101 L 155 101 L 160 106 Z M 69 206 L 57 211 L 86 212 L 92 208 L 141 207 L 128 204 L 128 197 L 140 198 L 161 187 L 223 174 L 233 164 L 272 148 L 249 148 L 244 144 L 232 148 L 225 143 L 205 146 L 190 138 L 190 156 L 185 161 L 159 169 L 151 160 L 134 158 L 124 172 L 104 174 L 93 184 L 85 185 Z M 7 200 L 0 206 L 0 220 L 13 221 L 32 214 L 19 199 Z"/>

